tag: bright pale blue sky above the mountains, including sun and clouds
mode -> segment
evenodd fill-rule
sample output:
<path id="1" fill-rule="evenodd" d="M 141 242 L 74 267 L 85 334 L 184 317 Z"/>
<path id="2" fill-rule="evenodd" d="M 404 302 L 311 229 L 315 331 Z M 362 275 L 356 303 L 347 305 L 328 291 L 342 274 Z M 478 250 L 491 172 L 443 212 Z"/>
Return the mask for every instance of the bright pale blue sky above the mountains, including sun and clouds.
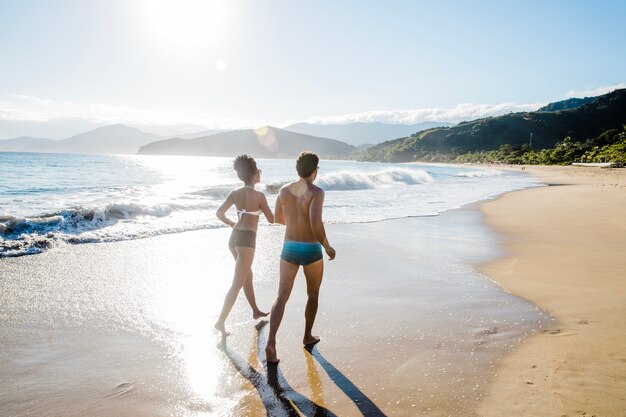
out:
<path id="1" fill-rule="evenodd" d="M 0 138 L 458 122 L 626 87 L 626 1 L 0 0 Z"/>

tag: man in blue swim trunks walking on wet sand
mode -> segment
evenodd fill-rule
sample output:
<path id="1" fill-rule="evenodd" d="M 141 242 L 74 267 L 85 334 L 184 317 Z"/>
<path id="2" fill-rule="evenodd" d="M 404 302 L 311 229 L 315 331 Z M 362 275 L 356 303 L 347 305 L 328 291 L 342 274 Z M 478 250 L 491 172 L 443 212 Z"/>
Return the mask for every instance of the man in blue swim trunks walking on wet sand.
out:
<path id="1" fill-rule="evenodd" d="M 265 348 L 268 363 L 278 363 L 276 332 L 283 319 L 285 305 L 289 300 L 300 266 L 306 278 L 308 296 L 304 310 L 305 325 L 302 343 L 305 346 L 312 346 L 320 341 L 319 337 L 313 336 L 311 330 L 317 314 L 317 300 L 324 275 L 322 247 L 329 260 L 335 258 L 335 249 L 328 243 L 322 221 L 324 190 L 313 185 L 319 169 L 318 164 L 317 155 L 312 152 L 302 152 L 296 160 L 296 170 L 300 179 L 284 185 L 276 199 L 274 211 L 276 223 L 287 227 L 283 251 L 280 255 L 278 297 L 272 306 L 270 333 Z"/>

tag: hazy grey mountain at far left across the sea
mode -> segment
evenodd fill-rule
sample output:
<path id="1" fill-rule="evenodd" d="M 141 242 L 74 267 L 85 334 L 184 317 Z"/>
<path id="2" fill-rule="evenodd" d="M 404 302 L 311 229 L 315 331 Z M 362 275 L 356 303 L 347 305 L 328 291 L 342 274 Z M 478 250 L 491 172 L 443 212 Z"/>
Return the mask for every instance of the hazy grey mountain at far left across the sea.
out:
<path id="1" fill-rule="evenodd" d="M 20 137 L 0 141 L 0 150 L 85 154 L 135 154 L 162 136 L 122 124 L 99 127 L 63 140 Z"/>

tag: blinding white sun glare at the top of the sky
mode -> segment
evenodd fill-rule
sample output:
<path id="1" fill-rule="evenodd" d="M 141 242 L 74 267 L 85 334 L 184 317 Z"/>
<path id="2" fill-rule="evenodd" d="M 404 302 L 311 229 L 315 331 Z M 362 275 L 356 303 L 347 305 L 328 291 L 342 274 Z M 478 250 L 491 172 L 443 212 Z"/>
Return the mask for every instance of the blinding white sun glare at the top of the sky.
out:
<path id="1" fill-rule="evenodd" d="M 194 53 L 224 47 L 225 31 L 232 16 L 232 2 L 143 0 L 139 4 L 140 21 L 149 37 L 160 47 Z M 218 68 L 226 70 L 225 65 Z"/>

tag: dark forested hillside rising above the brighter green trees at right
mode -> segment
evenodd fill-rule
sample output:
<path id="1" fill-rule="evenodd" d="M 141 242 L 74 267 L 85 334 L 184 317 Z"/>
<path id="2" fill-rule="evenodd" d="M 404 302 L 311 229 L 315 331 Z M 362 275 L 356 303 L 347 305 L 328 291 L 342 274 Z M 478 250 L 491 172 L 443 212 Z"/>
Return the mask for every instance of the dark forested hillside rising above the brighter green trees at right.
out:
<path id="1" fill-rule="evenodd" d="M 548 106 L 547 106 L 548 107 Z M 512 113 L 462 122 L 448 128 L 423 130 L 406 138 L 387 141 L 362 151 L 366 161 L 430 161 L 450 156 L 495 150 L 505 144 L 529 144 L 545 149 L 570 137 L 584 142 L 626 124 L 626 89 L 595 97 L 571 110 Z M 532 134 L 532 138 L 531 138 Z M 447 158 L 449 159 L 449 158 Z"/>

